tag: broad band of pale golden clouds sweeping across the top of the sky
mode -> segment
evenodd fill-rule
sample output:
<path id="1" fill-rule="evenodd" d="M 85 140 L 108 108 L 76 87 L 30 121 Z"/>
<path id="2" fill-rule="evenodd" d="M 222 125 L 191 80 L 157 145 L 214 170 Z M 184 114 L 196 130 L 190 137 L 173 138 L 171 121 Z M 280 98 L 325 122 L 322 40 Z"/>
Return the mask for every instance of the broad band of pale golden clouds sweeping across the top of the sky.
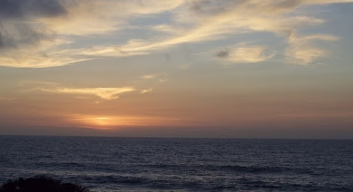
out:
<path id="1" fill-rule="evenodd" d="M 323 56 L 321 49 L 301 49 L 290 35 L 296 29 L 325 21 L 303 16 L 296 10 L 307 5 L 347 2 L 353 0 L 4 0 L 0 2 L 0 65 L 61 66 L 105 56 L 150 54 L 183 43 L 202 43 L 252 32 L 270 32 L 279 39 L 287 39 L 285 54 L 310 63 Z M 170 16 L 164 18 L 168 24 L 141 26 L 154 32 L 148 40 L 86 41 L 101 36 L 109 39 L 119 30 L 134 27 L 132 21 L 136 19 L 147 15 L 157 17 L 161 13 Z M 254 54 L 249 61 L 261 61 L 262 48 L 252 49 L 257 56 Z M 242 50 L 235 52 L 241 54 Z"/>

